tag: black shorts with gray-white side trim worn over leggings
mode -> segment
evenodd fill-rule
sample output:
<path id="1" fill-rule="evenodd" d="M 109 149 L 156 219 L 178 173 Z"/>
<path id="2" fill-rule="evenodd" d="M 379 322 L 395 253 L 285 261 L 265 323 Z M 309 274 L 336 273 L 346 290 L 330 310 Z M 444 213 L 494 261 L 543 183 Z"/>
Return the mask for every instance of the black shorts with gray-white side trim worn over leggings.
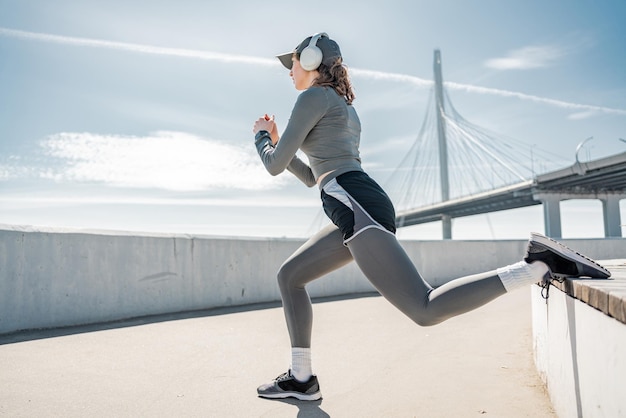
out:
<path id="1" fill-rule="evenodd" d="M 387 193 L 362 171 L 349 171 L 322 188 L 324 212 L 346 244 L 368 228 L 395 234 L 396 213 Z"/>

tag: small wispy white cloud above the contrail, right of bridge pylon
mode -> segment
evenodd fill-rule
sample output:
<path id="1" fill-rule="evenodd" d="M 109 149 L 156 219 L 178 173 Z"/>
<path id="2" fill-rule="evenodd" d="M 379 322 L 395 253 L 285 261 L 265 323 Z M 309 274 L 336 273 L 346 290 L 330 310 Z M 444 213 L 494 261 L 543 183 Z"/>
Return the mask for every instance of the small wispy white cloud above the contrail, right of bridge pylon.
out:
<path id="1" fill-rule="evenodd" d="M 562 49 L 553 45 L 527 46 L 506 57 L 487 60 L 485 66 L 495 70 L 529 70 L 550 66 L 564 55 Z"/>

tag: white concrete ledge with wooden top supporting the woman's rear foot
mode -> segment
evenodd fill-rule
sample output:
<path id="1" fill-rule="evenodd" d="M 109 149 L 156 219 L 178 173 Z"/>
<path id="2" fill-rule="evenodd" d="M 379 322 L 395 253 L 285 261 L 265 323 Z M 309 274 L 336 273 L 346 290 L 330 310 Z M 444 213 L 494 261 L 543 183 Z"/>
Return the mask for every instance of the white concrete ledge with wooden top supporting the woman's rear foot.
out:
<path id="1" fill-rule="evenodd" d="M 626 260 L 601 264 L 612 280 L 566 280 L 543 300 L 533 286 L 535 364 L 561 417 L 626 413 Z"/>

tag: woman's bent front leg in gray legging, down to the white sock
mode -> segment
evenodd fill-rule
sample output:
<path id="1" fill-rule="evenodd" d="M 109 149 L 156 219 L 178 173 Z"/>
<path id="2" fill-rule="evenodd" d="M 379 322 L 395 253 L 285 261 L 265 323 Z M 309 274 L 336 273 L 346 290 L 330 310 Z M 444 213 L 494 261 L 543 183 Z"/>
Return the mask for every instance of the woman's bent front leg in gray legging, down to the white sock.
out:
<path id="1" fill-rule="evenodd" d="M 305 285 L 352 261 L 339 229 L 329 225 L 303 244 L 278 271 L 278 285 L 292 347 L 311 347 L 313 310 Z"/>

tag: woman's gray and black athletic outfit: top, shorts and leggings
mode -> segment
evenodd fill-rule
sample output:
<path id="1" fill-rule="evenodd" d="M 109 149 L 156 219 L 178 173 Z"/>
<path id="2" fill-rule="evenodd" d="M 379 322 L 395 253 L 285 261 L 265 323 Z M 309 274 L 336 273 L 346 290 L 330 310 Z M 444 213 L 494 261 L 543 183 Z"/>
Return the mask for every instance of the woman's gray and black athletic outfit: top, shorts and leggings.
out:
<path id="1" fill-rule="evenodd" d="M 352 260 L 381 295 L 420 325 L 470 311 L 509 289 L 506 268 L 436 289 L 422 279 L 396 239 L 390 199 L 361 168 L 360 132 L 352 105 L 332 88 L 311 87 L 299 95 L 276 146 L 268 132 L 256 135 L 257 150 L 272 175 L 287 169 L 312 187 L 330 172 L 319 187 L 334 225 L 311 237 L 278 272 L 292 347 L 311 347 L 312 309 L 305 285 Z M 310 167 L 296 156 L 298 149 Z"/>

